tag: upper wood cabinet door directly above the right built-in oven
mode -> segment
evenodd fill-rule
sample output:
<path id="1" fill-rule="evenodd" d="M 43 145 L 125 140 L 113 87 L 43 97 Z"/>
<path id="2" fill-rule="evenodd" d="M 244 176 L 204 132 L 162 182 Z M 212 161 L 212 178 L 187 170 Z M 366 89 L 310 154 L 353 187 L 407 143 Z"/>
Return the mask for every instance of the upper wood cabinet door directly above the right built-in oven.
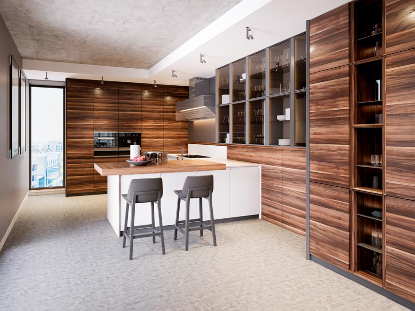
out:
<path id="1" fill-rule="evenodd" d="M 118 131 L 141 132 L 141 84 L 118 84 Z"/>

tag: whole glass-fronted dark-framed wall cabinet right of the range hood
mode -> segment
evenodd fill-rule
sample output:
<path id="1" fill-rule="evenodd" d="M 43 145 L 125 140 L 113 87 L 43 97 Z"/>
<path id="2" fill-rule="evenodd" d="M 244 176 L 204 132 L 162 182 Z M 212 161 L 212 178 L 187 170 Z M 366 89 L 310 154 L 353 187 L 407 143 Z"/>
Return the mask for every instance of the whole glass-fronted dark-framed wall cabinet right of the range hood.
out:
<path id="1" fill-rule="evenodd" d="M 301 34 L 216 70 L 216 142 L 306 146 L 306 38 Z"/>

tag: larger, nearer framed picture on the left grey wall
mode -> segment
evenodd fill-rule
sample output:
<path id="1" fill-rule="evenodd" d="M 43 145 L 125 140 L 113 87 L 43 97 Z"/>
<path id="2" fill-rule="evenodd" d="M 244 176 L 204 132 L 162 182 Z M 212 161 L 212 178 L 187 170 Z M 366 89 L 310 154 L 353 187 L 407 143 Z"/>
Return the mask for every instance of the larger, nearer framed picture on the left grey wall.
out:
<path id="1" fill-rule="evenodd" d="M 19 155 L 20 140 L 20 72 L 19 66 L 10 55 L 10 157 Z"/>

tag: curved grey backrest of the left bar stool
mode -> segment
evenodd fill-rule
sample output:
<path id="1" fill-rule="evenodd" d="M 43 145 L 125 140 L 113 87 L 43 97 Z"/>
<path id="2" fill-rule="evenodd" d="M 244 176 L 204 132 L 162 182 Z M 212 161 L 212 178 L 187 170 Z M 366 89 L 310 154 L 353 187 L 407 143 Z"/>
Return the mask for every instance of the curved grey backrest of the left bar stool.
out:
<path id="1" fill-rule="evenodd" d="M 160 191 L 160 198 L 163 196 L 163 180 L 161 178 L 133 179 L 128 187 L 127 201 L 133 201 L 134 193 L 153 192 L 152 194 L 137 195 L 136 203 L 157 202 L 155 191 Z"/>

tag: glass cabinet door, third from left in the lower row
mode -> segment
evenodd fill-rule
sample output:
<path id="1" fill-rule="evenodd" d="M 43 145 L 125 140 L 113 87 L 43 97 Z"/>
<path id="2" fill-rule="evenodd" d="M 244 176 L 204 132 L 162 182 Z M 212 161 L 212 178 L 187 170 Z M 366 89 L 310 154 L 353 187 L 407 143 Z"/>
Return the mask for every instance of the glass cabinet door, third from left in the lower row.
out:
<path id="1" fill-rule="evenodd" d="M 249 144 L 264 145 L 265 99 L 249 102 Z"/>

